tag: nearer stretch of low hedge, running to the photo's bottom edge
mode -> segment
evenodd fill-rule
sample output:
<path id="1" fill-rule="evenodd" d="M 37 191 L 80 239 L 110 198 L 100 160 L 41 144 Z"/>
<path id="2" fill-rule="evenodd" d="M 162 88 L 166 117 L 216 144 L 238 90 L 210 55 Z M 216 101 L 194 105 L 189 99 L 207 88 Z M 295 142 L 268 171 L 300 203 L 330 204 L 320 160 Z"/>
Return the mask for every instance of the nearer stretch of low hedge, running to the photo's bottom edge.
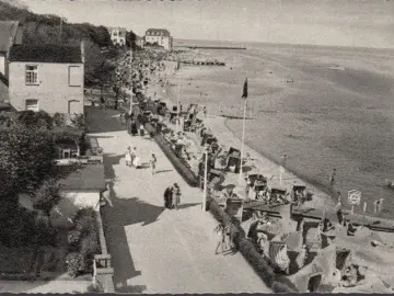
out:
<path id="1" fill-rule="evenodd" d="M 208 207 L 218 221 L 223 223 L 225 226 L 230 224 L 231 236 L 236 249 L 274 293 L 298 292 L 297 287 L 286 276 L 274 272 L 273 267 L 256 250 L 252 241 L 246 239 L 245 231 L 237 219 L 227 214 L 210 196 L 208 197 Z"/>

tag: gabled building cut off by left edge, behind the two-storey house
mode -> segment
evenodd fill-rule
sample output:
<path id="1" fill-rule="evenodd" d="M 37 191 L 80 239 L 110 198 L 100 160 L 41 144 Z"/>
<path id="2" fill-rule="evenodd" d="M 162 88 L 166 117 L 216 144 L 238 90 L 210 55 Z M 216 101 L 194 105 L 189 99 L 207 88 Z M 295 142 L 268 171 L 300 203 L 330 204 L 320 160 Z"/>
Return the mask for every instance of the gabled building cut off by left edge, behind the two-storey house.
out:
<path id="1" fill-rule="evenodd" d="M 7 57 L 14 44 L 22 44 L 22 25 L 16 21 L 0 22 L 0 75 L 8 79 Z"/>

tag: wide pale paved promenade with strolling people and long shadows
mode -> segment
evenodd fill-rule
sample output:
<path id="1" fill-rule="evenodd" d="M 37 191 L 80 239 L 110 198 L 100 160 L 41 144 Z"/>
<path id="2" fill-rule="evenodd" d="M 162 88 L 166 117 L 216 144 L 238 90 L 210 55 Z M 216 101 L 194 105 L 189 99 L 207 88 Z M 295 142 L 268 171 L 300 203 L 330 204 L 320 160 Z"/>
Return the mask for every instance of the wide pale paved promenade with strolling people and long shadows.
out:
<path id="1" fill-rule="evenodd" d="M 103 209 L 116 292 L 269 293 L 240 253 L 215 255 L 215 219 L 201 212 L 201 192 L 189 187 L 153 140 L 131 137 L 115 111 L 93 110 L 92 136 L 104 148 L 113 207 Z M 120 129 L 123 130 L 119 130 Z M 125 166 L 127 146 L 141 162 L 158 156 L 158 173 Z M 178 183 L 178 210 L 163 209 L 163 192 Z"/>

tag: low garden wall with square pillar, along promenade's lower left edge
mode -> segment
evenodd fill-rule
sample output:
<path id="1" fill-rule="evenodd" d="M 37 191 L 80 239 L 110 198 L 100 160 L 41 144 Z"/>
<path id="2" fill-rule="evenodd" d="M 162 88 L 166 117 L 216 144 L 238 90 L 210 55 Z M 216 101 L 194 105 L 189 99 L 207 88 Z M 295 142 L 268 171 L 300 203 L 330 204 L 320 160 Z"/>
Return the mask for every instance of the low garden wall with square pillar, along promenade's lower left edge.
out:
<path id="1" fill-rule="evenodd" d="M 104 235 L 103 220 L 100 212 L 96 212 L 96 220 L 99 226 L 99 241 L 101 254 L 94 255 L 93 263 L 93 284 L 100 283 L 104 293 L 115 293 L 114 286 L 114 269 L 112 266 L 112 257 L 108 254 L 107 244 Z"/>

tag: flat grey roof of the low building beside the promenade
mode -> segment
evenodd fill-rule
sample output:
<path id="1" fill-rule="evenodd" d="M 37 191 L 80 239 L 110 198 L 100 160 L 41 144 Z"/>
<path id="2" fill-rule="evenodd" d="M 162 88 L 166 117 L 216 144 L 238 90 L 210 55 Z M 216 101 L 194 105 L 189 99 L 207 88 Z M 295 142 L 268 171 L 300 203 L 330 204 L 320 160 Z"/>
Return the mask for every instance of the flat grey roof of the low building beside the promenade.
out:
<path id="1" fill-rule="evenodd" d="M 105 190 L 104 166 L 103 164 L 82 164 L 77 170 L 70 170 L 69 166 L 59 166 L 58 170 L 67 174 L 60 179 L 59 184 L 62 190 Z"/>

